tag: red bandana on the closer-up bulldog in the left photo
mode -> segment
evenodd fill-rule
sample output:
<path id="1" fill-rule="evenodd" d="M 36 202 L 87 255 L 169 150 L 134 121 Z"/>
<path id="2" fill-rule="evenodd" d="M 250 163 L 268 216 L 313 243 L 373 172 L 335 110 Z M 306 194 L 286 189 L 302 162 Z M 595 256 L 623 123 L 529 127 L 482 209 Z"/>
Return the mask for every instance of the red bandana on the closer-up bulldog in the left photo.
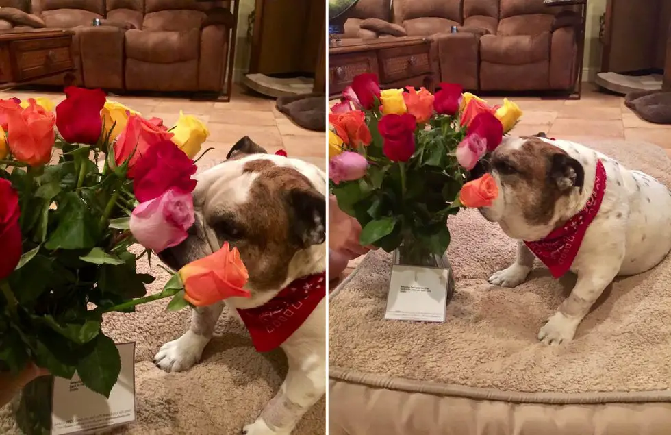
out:
<path id="1" fill-rule="evenodd" d="M 259 352 L 279 347 L 326 296 L 326 272 L 296 279 L 262 306 L 238 309 Z"/>

